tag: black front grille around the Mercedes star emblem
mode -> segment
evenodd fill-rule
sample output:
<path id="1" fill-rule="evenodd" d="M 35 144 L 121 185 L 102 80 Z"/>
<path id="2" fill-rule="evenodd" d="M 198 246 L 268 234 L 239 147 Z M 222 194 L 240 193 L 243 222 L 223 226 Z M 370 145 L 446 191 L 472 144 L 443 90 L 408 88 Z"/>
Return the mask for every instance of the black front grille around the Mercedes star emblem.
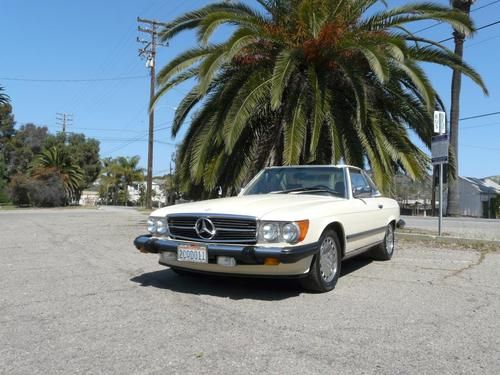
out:
<path id="1" fill-rule="evenodd" d="M 208 219 L 215 229 L 212 236 L 200 236 L 196 231 L 199 219 Z M 257 220 L 250 216 L 231 215 L 169 215 L 167 217 L 170 237 L 197 242 L 219 242 L 255 244 L 257 242 Z M 210 226 L 210 223 L 209 225 Z M 211 228 L 210 228 L 211 229 Z"/>

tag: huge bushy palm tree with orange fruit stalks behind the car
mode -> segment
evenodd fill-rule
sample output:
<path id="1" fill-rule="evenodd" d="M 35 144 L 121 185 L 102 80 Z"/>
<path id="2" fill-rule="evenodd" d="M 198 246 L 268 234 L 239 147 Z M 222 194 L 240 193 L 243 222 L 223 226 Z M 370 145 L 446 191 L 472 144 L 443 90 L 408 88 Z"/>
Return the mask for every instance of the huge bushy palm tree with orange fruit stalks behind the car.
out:
<path id="1" fill-rule="evenodd" d="M 195 78 L 177 106 L 177 135 L 192 113 L 179 153 L 184 188 L 237 187 L 265 165 L 368 164 L 387 189 L 399 170 L 423 178 L 430 114 L 443 108 L 420 62 L 480 76 L 446 47 L 406 29 L 433 19 L 463 34 L 473 25 L 463 12 L 431 3 L 387 9 L 376 0 L 258 0 L 211 4 L 186 13 L 162 32 L 168 41 L 195 29 L 199 46 L 159 73 L 154 105 L 174 86 Z M 223 24 L 235 26 L 223 43 L 210 43 Z"/>

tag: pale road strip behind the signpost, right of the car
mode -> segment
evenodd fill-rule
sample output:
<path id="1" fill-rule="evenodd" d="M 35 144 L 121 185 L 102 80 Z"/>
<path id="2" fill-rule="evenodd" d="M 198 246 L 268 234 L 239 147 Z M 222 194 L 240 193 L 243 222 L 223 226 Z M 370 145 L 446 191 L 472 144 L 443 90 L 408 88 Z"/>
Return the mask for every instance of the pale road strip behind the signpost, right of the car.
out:
<path id="1" fill-rule="evenodd" d="M 438 233 L 438 218 L 402 216 L 405 228 Z M 470 217 L 444 217 L 442 233 L 445 236 L 500 241 L 500 219 L 478 219 Z"/>

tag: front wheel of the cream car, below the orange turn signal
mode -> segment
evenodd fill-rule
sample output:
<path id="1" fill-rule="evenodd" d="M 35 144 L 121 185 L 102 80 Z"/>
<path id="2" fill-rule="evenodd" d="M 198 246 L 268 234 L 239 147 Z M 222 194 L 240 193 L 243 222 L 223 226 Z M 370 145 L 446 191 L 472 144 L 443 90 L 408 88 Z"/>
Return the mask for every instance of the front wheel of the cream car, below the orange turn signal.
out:
<path id="1" fill-rule="evenodd" d="M 337 233 L 332 229 L 325 230 L 318 243 L 318 253 L 314 256 L 309 274 L 301 279 L 301 285 L 304 289 L 324 293 L 335 288 L 337 284 L 341 248 Z"/>

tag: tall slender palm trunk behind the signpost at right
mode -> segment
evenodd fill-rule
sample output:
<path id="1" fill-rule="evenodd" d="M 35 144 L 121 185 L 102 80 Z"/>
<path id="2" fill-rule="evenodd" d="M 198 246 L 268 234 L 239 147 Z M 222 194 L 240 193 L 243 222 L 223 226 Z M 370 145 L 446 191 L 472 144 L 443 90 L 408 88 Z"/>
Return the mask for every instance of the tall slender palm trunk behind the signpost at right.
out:
<path id="1" fill-rule="evenodd" d="M 470 13 L 470 7 L 475 0 L 454 0 L 453 8 L 461 10 L 464 13 Z M 465 36 L 458 31 L 453 32 L 455 39 L 455 54 L 462 59 L 464 55 L 464 39 Z M 451 109 L 450 109 L 450 153 L 454 154 L 455 165 L 450 165 L 448 169 L 448 205 L 447 216 L 460 215 L 460 192 L 458 187 L 458 118 L 460 116 L 460 89 L 462 86 L 462 73 L 458 70 L 453 70 L 451 79 Z M 453 173 L 454 168 L 455 173 Z M 452 175 L 455 178 L 452 178 Z"/>

